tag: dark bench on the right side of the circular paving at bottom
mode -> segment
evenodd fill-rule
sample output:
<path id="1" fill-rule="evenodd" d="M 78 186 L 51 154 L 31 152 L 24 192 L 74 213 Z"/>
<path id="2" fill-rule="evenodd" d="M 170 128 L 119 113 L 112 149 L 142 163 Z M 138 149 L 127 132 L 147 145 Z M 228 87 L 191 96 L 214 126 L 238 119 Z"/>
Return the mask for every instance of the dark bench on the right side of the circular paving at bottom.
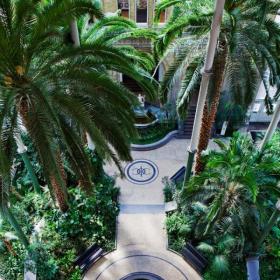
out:
<path id="1" fill-rule="evenodd" d="M 182 250 L 183 258 L 200 274 L 202 274 L 208 265 L 208 261 L 202 254 L 193 247 L 190 243 L 187 243 Z"/>

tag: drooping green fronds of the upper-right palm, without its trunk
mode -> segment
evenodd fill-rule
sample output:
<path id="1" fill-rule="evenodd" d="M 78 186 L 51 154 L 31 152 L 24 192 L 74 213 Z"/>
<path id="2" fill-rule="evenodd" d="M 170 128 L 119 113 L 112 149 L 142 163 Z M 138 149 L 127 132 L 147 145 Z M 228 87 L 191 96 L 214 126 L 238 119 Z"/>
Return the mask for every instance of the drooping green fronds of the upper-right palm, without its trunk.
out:
<path id="1" fill-rule="evenodd" d="M 182 117 L 186 117 L 191 97 L 198 92 L 214 3 L 208 0 L 164 0 L 156 6 L 156 22 L 160 13 L 170 6 L 174 8 L 173 15 L 155 41 L 155 56 L 161 63 L 176 54 L 161 82 L 161 95 L 166 101 L 170 89 L 178 79 L 182 80 L 177 96 L 177 110 Z M 225 4 L 217 50 L 221 46 L 227 49 L 224 83 L 230 95 L 230 102 L 240 106 L 243 117 L 258 90 L 259 80 L 265 85 L 267 111 L 272 112 L 270 85 L 279 88 L 280 81 L 280 28 L 272 19 L 272 15 L 274 17 L 278 9 L 279 3 L 277 5 L 274 1 L 229 0 Z M 217 77 L 220 78 L 219 75 Z M 212 86 L 214 82 L 213 79 L 210 80 L 209 104 L 215 91 L 215 86 Z M 275 99 L 278 96 L 279 90 Z M 238 116 L 234 116 L 232 109 L 226 111 L 223 113 L 230 115 L 228 118 L 232 122 L 231 125 L 236 125 L 236 122 L 240 121 Z"/>

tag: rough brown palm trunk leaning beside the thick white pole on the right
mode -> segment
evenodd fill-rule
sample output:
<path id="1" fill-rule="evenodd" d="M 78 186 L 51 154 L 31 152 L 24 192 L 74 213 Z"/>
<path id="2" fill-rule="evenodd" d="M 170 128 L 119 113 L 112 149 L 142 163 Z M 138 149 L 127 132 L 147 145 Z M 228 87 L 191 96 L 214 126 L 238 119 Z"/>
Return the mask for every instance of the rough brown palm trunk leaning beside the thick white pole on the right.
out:
<path id="1" fill-rule="evenodd" d="M 212 125 L 215 121 L 217 114 L 221 91 L 223 89 L 228 50 L 225 41 L 220 42 L 219 47 L 220 50 L 215 58 L 213 67 L 214 96 L 210 105 L 210 110 L 208 110 L 206 104 L 203 110 L 202 125 L 200 129 L 198 149 L 196 155 L 195 173 L 200 173 L 204 169 L 204 164 L 202 162 L 201 155 L 202 152 L 207 149 L 211 137 Z"/>

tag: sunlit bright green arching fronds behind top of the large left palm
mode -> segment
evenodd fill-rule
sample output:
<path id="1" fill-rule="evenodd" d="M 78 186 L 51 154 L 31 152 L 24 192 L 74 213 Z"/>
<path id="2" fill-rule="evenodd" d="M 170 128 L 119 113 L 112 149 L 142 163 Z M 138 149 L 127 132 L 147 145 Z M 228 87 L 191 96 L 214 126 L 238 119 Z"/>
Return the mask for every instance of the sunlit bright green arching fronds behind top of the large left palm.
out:
<path id="1" fill-rule="evenodd" d="M 123 57 L 133 65 L 138 66 L 141 75 L 131 73 L 121 61 L 116 60 L 115 64 L 104 64 L 107 70 L 113 70 L 130 76 L 136 82 L 142 81 L 142 76 L 149 77 L 149 73 L 154 68 L 153 56 L 147 52 L 142 52 L 127 43 L 127 40 L 146 38 L 154 41 L 157 33 L 150 29 L 139 28 L 133 21 L 119 17 L 110 16 L 100 20 L 91 21 L 89 16 L 84 16 L 78 21 L 81 44 L 101 44 L 110 47 L 116 55 L 122 53 Z M 145 71 L 146 70 L 146 71 Z M 148 72 L 147 72 L 148 71 Z M 153 82 L 153 80 L 151 80 Z M 149 94 L 149 88 L 145 89 L 146 83 L 142 83 L 143 90 Z M 147 96 L 149 97 L 149 95 Z M 150 96 L 151 97 L 151 96 Z"/>

